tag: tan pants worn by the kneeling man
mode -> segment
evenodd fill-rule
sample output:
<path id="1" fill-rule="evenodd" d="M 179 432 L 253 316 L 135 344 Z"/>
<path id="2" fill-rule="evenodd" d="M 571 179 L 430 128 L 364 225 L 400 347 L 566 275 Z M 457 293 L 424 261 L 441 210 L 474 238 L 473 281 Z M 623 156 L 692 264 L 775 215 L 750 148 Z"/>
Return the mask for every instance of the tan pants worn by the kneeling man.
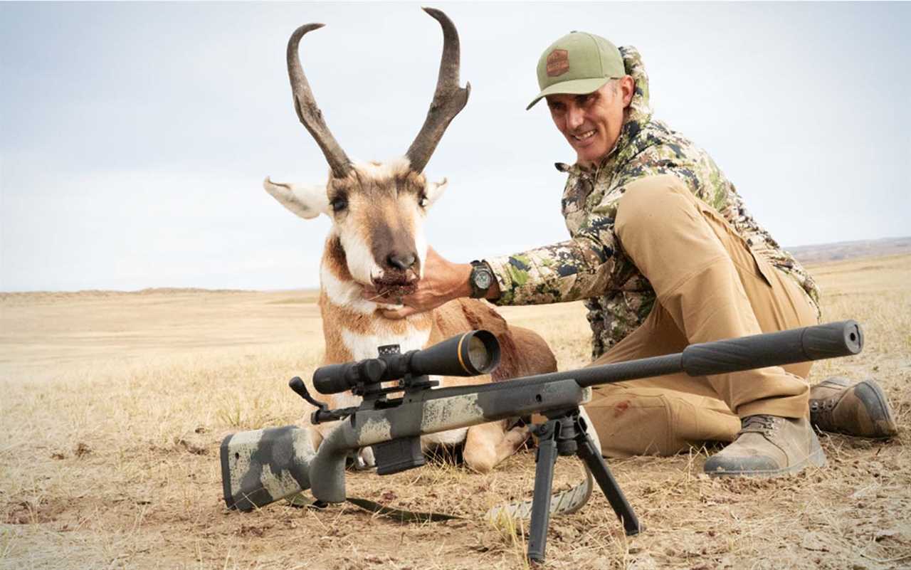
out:
<path id="1" fill-rule="evenodd" d="M 756 258 L 678 178 L 630 184 L 619 201 L 616 232 L 658 300 L 639 329 L 592 365 L 816 324 L 804 291 Z M 810 366 L 620 382 L 596 388 L 586 409 L 605 455 L 680 453 L 703 441 L 733 441 L 743 416 L 804 417 Z"/>

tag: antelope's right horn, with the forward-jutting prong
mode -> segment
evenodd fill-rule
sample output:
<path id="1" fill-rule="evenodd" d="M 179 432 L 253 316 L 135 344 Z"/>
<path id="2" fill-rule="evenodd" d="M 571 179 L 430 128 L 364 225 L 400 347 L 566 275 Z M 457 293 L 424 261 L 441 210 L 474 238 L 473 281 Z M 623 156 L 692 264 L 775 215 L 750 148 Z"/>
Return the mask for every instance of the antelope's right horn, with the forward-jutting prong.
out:
<path id="1" fill-rule="evenodd" d="M 421 127 L 421 132 L 417 134 L 415 142 L 405 153 L 415 172 L 424 170 L 430 156 L 434 154 L 440 138 L 443 137 L 446 127 L 449 126 L 449 121 L 458 115 L 462 107 L 465 107 L 468 102 L 468 93 L 471 92 L 470 83 L 466 83 L 464 88 L 458 86 L 459 44 L 455 25 L 440 10 L 424 8 L 424 11 L 433 16 L 443 27 L 443 58 L 440 61 L 440 73 L 436 80 L 434 100 L 430 104 L 430 110 L 427 111 L 424 126 Z"/>

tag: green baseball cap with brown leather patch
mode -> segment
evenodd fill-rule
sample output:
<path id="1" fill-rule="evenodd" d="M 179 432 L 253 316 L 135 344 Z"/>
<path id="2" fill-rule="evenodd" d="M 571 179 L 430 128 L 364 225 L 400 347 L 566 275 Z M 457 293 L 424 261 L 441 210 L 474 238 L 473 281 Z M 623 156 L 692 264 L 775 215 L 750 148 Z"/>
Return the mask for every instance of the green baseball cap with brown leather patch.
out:
<path id="1" fill-rule="evenodd" d="M 585 95 L 610 79 L 625 75 L 623 56 L 617 46 L 601 36 L 571 32 L 551 44 L 537 60 L 537 86 L 541 92 L 526 110 L 548 95 Z"/>

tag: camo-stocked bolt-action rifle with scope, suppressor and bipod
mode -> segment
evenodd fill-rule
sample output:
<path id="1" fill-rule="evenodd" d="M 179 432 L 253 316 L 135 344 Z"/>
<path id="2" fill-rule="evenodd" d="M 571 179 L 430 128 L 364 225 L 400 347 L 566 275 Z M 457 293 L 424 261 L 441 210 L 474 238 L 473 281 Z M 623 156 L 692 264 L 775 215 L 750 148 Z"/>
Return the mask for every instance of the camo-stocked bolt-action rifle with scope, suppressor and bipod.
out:
<path id="1" fill-rule="evenodd" d="M 360 405 L 330 410 L 316 401 L 300 378 L 290 386 L 316 407 L 312 423 L 339 422 L 314 450 L 309 433 L 295 426 L 233 433 L 221 443 L 221 477 L 229 508 L 251 511 L 310 489 L 318 502 L 343 503 L 345 460 L 373 446 L 377 473 L 398 473 L 425 463 L 420 436 L 479 423 L 543 414 L 534 426 L 537 467 L 528 556 L 543 561 L 550 514 L 550 486 L 558 455 L 578 455 L 606 495 L 627 534 L 640 523 L 588 433 L 579 406 L 591 388 L 677 372 L 708 376 L 766 366 L 857 354 L 863 333 L 855 321 L 692 344 L 676 354 L 527 376 L 505 382 L 431 390 L 430 376 L 474 376 L 499 361 L 496 337 L 471 331 L 423 351 L 379 348 L 377 358 L 323 366 L 313 372 L 317 392 L 351 390 Z M 385 382 L 385 386 L 384 386 Z M 395 382 L 390 385 L 390 382 Z M 398 394 L 398 395 L 394 395 Z"/>

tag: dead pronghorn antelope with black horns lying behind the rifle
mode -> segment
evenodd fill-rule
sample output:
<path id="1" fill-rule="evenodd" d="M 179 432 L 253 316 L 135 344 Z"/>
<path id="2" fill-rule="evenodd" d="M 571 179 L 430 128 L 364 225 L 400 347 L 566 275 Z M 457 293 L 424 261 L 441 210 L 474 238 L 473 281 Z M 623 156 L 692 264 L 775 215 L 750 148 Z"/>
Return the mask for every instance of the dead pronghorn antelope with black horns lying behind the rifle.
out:
<path id="1" fill-rule="evenodd" d="M 439 10 L 425 8 L 443 27 L 443 57 L 433 103 L 424 126 L 403 158 L 386 163 L 353 163 L 322 120 L 303 74 L 298 46 L 304 34 L 322 24 L 302 25 L 288 42 L 288 75 L 294 109 L 310 131 L 330 166 L 329 180 L 312 186 L 281 184 L 266 178 L 264 188 L 298 216 L 312 219 L 326 214 L 333 221 L 320 267 L 320 310 L 326 351 L 324 363 L 376 356 L 383 344 L 399 344 L 411 351 L 473 329 L 496 334 L 503 357 L 493 378 L 442 378 L 441 385 L 481 383 L 556 370 L 548 345 L 536 333 L 509 327 L 485 301 L 454 300 L 404 320 L 385 319 L 382 302 L 363 299 L 371 286 L 393 298 L 415 287 L 424 270 L 427 210 L 446 186 L 428 182 L 423 173 L 449 122 L 465 107 L 470 85 L 459 87 L 459 42 L 455 25 Z M 330 396 L 331 407 L 356 405 L 350 392 Z M 312 430 L 314 446 L 333 428 L 320 424 Z M 426 436 L 422 443 L 465 442 L 466 464 L 489 471 L 527 438 L 527 428 L 507 430 L 505 422 Z M 358 463 L 372 464 L 373 453 L 361 452 Z"/>

